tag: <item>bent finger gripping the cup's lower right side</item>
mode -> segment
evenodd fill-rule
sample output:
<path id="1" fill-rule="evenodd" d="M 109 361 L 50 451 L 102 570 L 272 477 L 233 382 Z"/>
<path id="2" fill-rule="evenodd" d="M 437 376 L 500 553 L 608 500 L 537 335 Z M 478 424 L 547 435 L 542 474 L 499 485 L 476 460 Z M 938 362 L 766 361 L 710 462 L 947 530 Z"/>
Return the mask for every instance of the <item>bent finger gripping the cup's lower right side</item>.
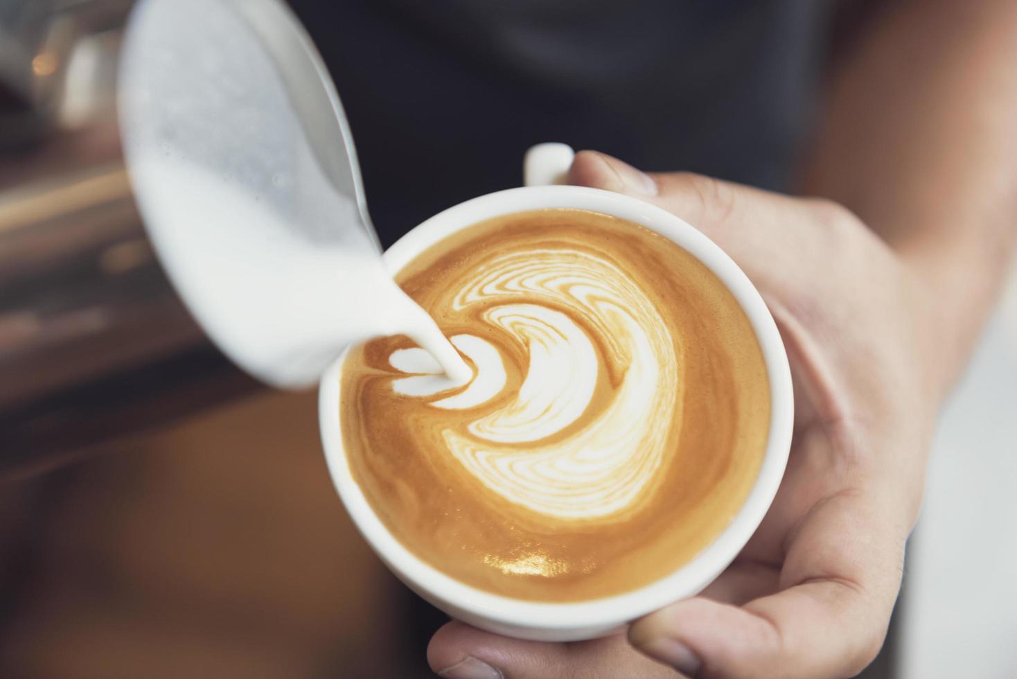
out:
<path id="1" fill-rule="evenodd" d="M 835 496 L 792 536 L 787 589 L 743 607 L 679 602 L 638 621 L 629 638 L 699 677 L 854 676 L 882 645 L 900 585 L 903 536 L 883 515 L 878 499 Z"/>

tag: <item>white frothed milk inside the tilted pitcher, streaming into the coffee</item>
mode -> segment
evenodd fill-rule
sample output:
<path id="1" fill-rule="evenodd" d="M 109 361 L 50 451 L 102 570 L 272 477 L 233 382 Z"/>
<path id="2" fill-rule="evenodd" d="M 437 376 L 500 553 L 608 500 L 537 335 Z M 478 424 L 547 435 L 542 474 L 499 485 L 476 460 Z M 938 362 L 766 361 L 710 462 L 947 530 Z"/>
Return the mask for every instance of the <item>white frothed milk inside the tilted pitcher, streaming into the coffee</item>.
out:
<path id="1" fill-rule="evenodd" d="M 359 222 L 356 206 L 314 186 L 320 175 L 297 176 L 296 197 L 274 204 L 294 192 L 252 194 L 192 164 L 133 159 L 135 186 L 159 188 L 140 192 L 149 235 L 212 338 L 249 372 L 276 371 L 280 383 L 304 373 L 312 383 L 350 344 L 405 333 L 448 370 L 447 383 L 468 380 L 469 367 L 396 285 L 366 233 L 343 226 Z"/>

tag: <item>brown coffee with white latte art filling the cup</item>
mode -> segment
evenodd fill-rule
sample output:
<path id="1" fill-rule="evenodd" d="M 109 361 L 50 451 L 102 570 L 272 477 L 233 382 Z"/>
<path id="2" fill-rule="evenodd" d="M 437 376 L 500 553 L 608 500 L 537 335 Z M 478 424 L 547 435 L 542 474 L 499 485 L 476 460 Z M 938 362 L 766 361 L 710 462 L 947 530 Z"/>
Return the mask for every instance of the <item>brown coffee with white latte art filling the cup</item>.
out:
<path id="1" fill-rule="evenodd" d="M 406 336 L 351 350 L 352 476 L 407 549 L 515 599 L 621 594 L 728 526 L 766 449 L 770 389 L 724 284 L 668 239 L 577 209 L 470 227 L 397 276 L 467 358 Z"/>

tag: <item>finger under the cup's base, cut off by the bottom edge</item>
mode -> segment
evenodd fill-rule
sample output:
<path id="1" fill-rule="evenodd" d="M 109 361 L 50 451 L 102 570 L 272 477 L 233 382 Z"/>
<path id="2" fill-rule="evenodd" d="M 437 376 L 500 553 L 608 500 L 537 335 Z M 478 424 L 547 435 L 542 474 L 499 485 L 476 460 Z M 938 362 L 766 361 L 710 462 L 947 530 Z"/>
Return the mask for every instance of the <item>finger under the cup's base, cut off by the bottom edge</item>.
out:
<path id="1" fill-rule="evenodd" d="M 439 629 L 427 662 L 451 679 L 676 679 L 673 669 L 635 651 L 624 634 L 572 643 L 527 641 L 462 622 Z"/>

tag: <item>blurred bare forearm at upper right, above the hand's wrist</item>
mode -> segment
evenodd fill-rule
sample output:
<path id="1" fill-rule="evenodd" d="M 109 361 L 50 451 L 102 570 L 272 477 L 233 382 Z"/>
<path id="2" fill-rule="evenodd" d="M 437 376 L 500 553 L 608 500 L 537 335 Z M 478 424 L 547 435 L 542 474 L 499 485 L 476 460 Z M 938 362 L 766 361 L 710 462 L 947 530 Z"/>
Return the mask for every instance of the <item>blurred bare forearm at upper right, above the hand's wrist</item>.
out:
<path id="1" fill-rule="evenodd" d="M 882 11 L 833 78 L 800 189 L 853 210 L 935 291 L 946 391 L 1017 247 L 1017 3 Z"/>

